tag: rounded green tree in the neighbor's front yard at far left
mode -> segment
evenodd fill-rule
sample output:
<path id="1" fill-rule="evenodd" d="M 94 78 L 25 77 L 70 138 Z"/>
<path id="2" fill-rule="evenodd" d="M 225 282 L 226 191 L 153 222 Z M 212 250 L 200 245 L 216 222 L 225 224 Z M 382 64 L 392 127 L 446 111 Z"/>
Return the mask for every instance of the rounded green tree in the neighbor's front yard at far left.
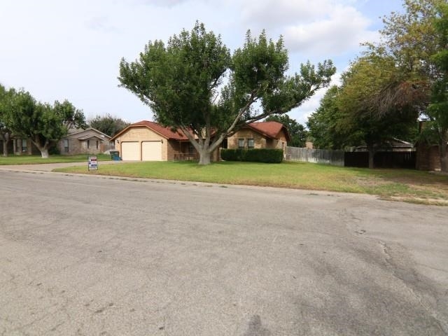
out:
<path id="1" fill-rule="evenodd" d="M 42 158 L 48 158 L 48 149 L 64 137 L 72 127 L 85 127 L 82 111 L 65 100 L 56 101 L 53 106 L 36 102 L 36 99 L 20 90 L 16 92 L 8 111 L 8 125 L 15 135 L 31 139 L 41 151 Z"/>

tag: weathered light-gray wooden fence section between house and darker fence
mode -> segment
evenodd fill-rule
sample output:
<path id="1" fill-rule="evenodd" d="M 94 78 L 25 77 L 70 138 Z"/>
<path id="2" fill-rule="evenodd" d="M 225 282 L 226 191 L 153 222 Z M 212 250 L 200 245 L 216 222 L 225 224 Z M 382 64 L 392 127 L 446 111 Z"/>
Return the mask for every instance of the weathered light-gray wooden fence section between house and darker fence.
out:
<path id="1" fill-rule="evenodd" d="M 344 151 L 286 147 L 286 160 L 344 166 Z"/>

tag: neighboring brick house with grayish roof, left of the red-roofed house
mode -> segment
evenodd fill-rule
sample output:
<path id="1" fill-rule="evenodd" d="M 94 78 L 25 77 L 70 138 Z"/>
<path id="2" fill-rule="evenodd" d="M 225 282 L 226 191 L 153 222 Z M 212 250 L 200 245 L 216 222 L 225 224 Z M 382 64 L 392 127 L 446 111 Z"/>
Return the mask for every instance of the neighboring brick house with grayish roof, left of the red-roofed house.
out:
<path id="1" fill-rule="evenodd" d="M 69 130 L 69 134 L 57 144 L 61 154 L 99 154 L 114 149 L 109 135 L 94 128 Z"/>

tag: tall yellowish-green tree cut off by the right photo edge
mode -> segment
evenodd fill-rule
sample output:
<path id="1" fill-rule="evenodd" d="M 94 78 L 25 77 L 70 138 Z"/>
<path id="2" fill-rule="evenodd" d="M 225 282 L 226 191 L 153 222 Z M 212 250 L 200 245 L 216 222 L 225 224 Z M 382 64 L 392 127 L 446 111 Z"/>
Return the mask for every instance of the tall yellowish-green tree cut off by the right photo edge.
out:
<path id="1" fill-rule="evenodd" d="M 438 140 L 444 171 L 448 171 L 448 117 L 444 106 L 447 89 L 442 65 L 447 50 L 447 28 L 443 23 L 447 20 L 446 6 L 446 0 L 405 0 L 403 13 L 384 18 L 381 42 L 369 45 L 370 52 L 392 57 L 399 71 L 399 76 L 374 97 L 377 111 L 413 110 L 428 118 L 424 135 Z M 431 131 L 432 137 L 428 137 Z"/>

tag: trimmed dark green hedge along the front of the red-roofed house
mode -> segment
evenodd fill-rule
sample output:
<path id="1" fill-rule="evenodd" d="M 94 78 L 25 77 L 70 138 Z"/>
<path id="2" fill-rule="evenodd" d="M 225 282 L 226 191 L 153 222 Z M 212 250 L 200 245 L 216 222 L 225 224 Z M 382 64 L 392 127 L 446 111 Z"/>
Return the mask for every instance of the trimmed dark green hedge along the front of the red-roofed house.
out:
<path id="1" fill-rule="evenodd" d="M 221 158 L 225 161 L 248 161 L 280 163 L 283 161 L 281 149 L 221 149 Z"/>

